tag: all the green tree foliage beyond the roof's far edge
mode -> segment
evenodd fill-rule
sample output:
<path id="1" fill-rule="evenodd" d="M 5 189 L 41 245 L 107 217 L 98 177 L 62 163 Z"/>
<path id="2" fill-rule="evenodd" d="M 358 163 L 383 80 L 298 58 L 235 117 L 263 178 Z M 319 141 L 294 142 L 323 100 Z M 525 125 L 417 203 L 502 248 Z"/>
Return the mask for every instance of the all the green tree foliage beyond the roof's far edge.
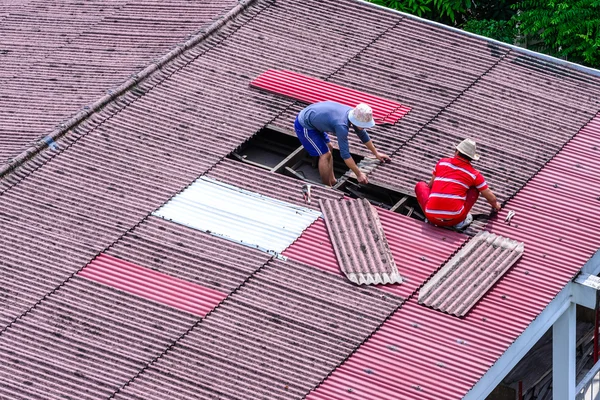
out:
<path id="1" fill-rule="evenodd" d="M 591 67 L 600 67 L 600 0 L 369 0 Z"/>

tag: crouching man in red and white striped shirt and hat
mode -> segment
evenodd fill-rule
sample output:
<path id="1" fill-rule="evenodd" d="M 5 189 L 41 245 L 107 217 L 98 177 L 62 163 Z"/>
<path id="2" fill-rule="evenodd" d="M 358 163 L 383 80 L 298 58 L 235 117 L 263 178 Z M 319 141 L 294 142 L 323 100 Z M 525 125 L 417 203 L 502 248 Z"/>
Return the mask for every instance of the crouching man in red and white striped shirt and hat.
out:
<path id="1" fill-rule="evenodd" d="M 415 186 L 417 201 L 427 220 L 437 226 L 463 230 L 473 216 L 469 211 L 479 193 L 492 208 L 500 210 L 500 203 L 471 161 L 479 160 L 475 141 L 465 139 L 456 146 L 453 158 L 442 158 L 433 170 L 429 183 Z"/>

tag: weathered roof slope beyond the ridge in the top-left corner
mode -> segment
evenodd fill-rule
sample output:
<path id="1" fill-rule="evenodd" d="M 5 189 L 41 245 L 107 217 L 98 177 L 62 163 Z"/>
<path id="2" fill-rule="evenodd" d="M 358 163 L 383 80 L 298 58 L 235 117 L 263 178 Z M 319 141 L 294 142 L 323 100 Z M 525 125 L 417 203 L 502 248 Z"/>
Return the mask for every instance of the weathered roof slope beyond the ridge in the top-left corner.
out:
<path id="1" fill-rule="evenodd" d="M 0 163 L 236 4 L 9 2 L 0 9 Z"/>

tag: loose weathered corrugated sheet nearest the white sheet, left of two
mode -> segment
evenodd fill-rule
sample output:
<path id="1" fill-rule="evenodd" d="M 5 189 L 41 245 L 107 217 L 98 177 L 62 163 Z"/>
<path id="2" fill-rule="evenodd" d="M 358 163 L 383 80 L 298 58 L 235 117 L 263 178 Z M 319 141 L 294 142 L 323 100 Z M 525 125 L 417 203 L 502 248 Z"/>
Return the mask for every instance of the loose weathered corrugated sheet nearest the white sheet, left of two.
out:
<path id="1" fill-rule="evenodd" d="M 320 200 L 340 270 L 359 285 L 402 283 L 385 231 L 366 200 Z"/>

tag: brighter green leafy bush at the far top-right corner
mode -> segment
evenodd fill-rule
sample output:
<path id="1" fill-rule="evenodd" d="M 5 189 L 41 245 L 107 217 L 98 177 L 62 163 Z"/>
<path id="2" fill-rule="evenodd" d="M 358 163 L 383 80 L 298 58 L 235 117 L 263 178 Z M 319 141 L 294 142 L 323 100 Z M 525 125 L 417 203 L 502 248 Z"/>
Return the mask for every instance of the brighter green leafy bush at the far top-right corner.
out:
<path id="1" fill-rule="evenodd" d="M 531 48 L 600 67 L 600 0 L 523 0 L 513 7 Z"/>

